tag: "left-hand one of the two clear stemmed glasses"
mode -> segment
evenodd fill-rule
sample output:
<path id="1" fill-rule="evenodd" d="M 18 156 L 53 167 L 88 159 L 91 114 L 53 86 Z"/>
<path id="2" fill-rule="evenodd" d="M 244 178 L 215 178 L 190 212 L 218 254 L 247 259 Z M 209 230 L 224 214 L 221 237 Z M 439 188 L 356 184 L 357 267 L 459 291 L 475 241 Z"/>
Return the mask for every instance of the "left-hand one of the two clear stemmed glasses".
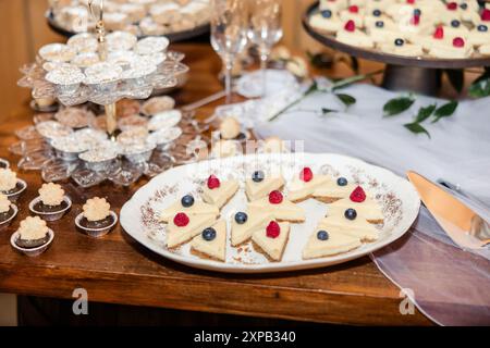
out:
<path id="1" fill-rule="evenodd" d="M 247 44 L 247 2 L 211 0 L 211 46 L 225 67 L 226 103 L 231 102 L 232 96 L 233 62 Z"/>

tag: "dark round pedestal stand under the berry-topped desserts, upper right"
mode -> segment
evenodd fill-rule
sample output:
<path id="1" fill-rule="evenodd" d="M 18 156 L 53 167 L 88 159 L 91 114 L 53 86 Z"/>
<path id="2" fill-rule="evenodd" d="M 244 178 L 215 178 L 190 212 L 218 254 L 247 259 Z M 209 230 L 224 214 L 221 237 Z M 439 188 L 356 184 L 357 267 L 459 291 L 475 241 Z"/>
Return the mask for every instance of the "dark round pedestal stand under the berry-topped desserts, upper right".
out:
<path id="1" fill-rule="evenodd" d="M 339 42 L 329 33 L 309 25 L 309 17 L 318 12 L 319 2 L 311 4 L 303 15 L 305 30 L 322 45 L 351 54 L 387 64 L 382 86 L 392 90 L 413 90 L 426 95 L 436 95 L 440 87 L 440 71 L 444 69 L 465 69 L 489 66 L 489 57 L 470 59 L 437 59 L 426 57 L 403 57 L 384 53 L 376 49 L 363 49 Z"/>

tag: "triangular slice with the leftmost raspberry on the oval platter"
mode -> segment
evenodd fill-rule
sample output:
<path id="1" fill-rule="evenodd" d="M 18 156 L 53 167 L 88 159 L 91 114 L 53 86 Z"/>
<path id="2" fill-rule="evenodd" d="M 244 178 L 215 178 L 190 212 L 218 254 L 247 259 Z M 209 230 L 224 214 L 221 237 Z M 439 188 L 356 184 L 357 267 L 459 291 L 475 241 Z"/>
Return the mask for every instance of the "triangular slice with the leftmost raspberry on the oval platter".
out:
<path id="1" fill-rule="evenodd" d="M 212 225 L 215 214 L 187 215 L 179 212 L 167 225 L 167 247 L 176 248 L 197 236 L 204 228 Z"/>

